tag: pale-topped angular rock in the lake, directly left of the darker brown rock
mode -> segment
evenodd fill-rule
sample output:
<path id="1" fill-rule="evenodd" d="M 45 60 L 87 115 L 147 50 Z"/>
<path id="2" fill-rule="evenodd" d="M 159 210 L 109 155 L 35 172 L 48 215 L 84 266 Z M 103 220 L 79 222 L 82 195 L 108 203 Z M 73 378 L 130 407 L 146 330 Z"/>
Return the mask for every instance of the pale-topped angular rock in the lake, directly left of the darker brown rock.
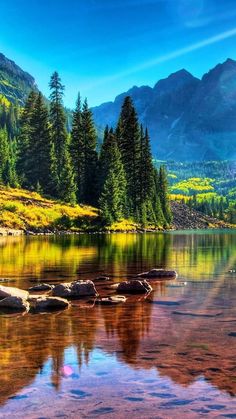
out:
<path id="1" fill-rule="evenodd" d="M 85 296 L 98 296 L 92 281 L 75 281 L 58 284 L 52 291 L 52 295 L 65 298 L 77 298 Z"/>

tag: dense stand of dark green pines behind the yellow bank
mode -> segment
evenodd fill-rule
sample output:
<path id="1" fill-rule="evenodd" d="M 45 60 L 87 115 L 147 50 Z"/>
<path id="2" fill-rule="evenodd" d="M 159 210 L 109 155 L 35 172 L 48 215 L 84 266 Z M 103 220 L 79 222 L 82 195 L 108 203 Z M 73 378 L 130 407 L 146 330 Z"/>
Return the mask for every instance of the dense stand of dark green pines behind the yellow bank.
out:
<path id="1" fill-rule="evenodd" d="M 32 91 L 24 108 L 0 103 L 0 181 L 71 205 L 98 206 L 102 222 L 132 219 L 168 227 L 172 214 L 164 166 L 154 167 L 148 130 L 139 124 L 130 97 L 115 129 L 97 144 L 93 115 L 80 95 L 69 130 L 58 73 L 50 100 Z"/>

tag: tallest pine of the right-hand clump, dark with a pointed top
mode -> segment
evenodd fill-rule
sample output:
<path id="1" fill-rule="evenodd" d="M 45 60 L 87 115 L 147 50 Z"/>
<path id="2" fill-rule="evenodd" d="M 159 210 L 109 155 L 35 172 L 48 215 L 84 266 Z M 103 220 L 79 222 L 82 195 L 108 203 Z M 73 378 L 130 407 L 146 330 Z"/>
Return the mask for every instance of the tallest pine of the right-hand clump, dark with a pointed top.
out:
<path id="1" fill-rule="evenodd" d="M 129 212 L 135 216 L 140 204 L 140 129 L 137 114 L 129 96 L 125 98 L 122 105 L 116 136 L 126 173 Z"/>

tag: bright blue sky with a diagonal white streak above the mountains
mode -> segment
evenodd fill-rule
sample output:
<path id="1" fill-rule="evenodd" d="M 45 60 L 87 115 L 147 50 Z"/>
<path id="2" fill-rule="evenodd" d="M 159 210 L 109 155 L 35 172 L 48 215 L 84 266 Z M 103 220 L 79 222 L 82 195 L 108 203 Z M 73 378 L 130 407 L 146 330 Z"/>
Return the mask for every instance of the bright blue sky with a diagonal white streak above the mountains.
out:
<path id="1" fill-rule="evenodd" d="M 79 91 L 96 106 L 236 59 L 235 0 L 0 0 L 0 10 L 0 52 L 46 96 L 57 70 L 70 108 Z"/>

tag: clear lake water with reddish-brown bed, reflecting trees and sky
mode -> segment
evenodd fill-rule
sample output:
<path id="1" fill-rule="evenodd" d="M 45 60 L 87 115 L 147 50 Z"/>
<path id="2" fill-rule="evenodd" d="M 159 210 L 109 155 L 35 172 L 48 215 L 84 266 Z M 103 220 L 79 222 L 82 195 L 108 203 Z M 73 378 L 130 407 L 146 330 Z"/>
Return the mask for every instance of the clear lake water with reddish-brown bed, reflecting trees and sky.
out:
<path id="1" fill-rule="evenodd" d="M 0 315 L 0 418 L 236 418 L 236 231 L 8 237 L 0 262 L 25 289 L 179 272 L 119 306 Z"/>

